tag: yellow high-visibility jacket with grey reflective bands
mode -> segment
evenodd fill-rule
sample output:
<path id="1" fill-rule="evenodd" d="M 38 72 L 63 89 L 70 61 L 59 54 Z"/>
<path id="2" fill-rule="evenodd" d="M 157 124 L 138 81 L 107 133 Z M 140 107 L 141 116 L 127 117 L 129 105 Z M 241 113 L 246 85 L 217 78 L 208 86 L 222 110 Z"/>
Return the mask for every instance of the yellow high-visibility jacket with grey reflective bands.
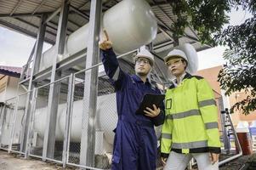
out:
<path id="1" fill-rule="evenodd" d="M 165 97 L 161 153 L 220 153 L 218 110 L 213 90 L 203 77 L 186 74 Z"/>

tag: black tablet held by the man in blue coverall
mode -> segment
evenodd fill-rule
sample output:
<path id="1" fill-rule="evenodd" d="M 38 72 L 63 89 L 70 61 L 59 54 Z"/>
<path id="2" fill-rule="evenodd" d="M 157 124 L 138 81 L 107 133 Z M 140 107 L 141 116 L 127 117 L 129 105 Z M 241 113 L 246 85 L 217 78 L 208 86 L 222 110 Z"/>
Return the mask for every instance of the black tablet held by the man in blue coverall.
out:
<path id="1" fill-rule="evenodd" d="M 153 109 L 154 104 L 156 105 L 157 108 L 160 107 L 162 105 L 164 97 L 164 94 L 145 94 L 139 105 L 139 109 L 136 111 L 136 114 L 144 115 L 144 111 L 147 111 L 145 108 L 149 107 Z"/>

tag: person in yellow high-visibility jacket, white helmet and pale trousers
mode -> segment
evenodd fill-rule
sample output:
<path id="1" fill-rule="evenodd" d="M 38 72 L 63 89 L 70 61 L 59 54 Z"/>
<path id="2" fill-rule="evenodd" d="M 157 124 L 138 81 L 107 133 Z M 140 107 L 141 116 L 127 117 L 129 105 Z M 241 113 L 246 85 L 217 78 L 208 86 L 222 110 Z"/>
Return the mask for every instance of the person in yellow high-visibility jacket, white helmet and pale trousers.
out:
<path id="1" fill-rule="evenodd" d="M 183 170 L 192 157 L 199 169 L 219 169 L 218 111 L 212 88 L 203 77 L 186 72 L 190 63 L 182 50 L 174 49 L 164 60 L 175 77 L 165 97 L 164 169 Z"/>

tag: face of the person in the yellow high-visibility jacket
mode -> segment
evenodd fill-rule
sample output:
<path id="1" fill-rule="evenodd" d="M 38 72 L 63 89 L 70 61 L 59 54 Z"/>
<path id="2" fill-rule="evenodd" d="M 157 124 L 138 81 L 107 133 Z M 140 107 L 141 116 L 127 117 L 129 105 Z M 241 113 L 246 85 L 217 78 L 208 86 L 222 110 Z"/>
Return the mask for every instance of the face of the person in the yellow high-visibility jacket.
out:
<path id="1" fill-rule="evenodd" d="M 185 72 L 186 62 L 180 57 L 168 59 L 168 71 L 175 77 L 181 76 Z"/>

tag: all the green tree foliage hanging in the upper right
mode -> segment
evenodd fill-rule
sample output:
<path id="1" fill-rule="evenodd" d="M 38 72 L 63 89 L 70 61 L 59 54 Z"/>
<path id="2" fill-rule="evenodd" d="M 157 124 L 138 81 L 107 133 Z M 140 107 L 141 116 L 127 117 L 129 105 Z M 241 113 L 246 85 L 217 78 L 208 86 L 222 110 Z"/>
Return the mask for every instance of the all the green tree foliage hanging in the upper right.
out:
<path id="1" fill-rule="evenodd" d="M 233 105 L 244 114 L 256 110 L 256 1 L 255 0 L 168 0 L 177 16 L 174 41 L 184 36 L 185 27 L 192 26 L 200 41 L 212 46 L 226 45 L 224 58 L 228 61 L 219 72 L 221 88 L 226 94 L 246 90 L 247 99 Z M 223 26 L 229 22 L 231 8 L 242 7 L 253 17 L 240 26 Z"/>

